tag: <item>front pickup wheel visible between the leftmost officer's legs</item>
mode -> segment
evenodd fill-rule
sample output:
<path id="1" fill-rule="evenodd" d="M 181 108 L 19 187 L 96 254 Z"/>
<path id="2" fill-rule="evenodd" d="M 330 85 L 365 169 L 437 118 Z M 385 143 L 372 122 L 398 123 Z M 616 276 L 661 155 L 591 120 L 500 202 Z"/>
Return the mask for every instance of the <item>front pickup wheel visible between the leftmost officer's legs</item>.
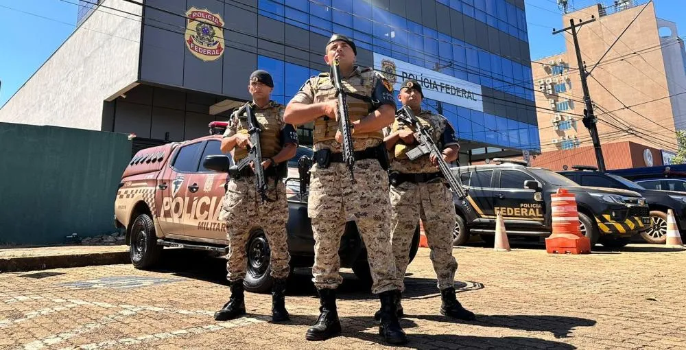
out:
<path id="1" fill-rule="evenodd" d="M 265 293 L 272 290 L 274 278 L 270 275 L 270 260 L 272 251 L 269 242 L 262 231 L 255 231 L 248 240 L 246 255 L 248 255 L 248 269 L 243 285 L 248 292 Z"/>

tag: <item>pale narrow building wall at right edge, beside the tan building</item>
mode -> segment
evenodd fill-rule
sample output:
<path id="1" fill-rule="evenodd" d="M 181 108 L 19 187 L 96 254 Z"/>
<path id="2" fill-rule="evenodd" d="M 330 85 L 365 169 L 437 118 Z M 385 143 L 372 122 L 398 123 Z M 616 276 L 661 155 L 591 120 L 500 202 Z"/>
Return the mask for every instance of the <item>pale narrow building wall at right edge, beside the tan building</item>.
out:
<path id="1" fill-rule="evenodd" d="M 662 56 L 665 58 L 670 95 L 683 93 L 686 91 L 686 52 L 684 52 L 683 40 L 678 36 L 676 23 L 658 19 L 657 25 L 659 30 L 668 29 L 660 34 L 660 43 L 663 45 Z M 670 102 L 672 102 L 674 127 L 676 130 L 686 129 L 686 95 L 670 97 Z"/>

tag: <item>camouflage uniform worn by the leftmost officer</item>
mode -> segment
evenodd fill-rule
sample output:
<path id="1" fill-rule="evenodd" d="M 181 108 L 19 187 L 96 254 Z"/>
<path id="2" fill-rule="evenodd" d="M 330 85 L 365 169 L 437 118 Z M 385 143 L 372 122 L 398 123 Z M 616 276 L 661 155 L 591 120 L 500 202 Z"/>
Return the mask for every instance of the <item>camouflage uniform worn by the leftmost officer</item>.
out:
<path id="1" fill-rule="evenodd" d="M 260 109 L 253 104 L 255 117 L 261 125 L 260 143 L 262 156 L 267 159 L 281 150 L 281 145 L 298 143 L 298 137 L 292 125 L 283 122 L 284 107 L 276 102 Z M 247 121 L 232 115 L 224 137 L 231 137 L 247 129 Z M 233 156 L 242 159 L 246 150 L 235 148 Z M 269 169 L 269 168 L 268 168 Z M 266 170 L 265 170 L 266 171 Z M 246 276 L 246 244 L 250 233 L 262 229 L 269 242 L 271 251 L 271 275 L 276 279 L 285 279 L 290 271 L 286 234 L 288 220 L 288 203 L 286 189 L 281 180 L 268 180 L 268 198 L 273 202 L 261 202 L 255 189 L 255 176 L 243 176 L 228 180 L 220 220 L 226 220 L 226 239 L 229 242 L 226 255 L 226 278 L 237 281 Z"/>

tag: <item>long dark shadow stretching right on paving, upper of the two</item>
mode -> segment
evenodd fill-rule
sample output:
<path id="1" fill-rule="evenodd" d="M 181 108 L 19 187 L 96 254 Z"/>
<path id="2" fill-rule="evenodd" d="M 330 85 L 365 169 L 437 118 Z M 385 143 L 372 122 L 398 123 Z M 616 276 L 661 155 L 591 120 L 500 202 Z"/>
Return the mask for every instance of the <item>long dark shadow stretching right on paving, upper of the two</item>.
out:
<path id="1" fill-rule="evenodd" d="M 567 338 L 576 327 L 591 327 L 595 320 L 549 315 L 477 315 L 474 321 L 462 321 L 437 315 L 408 315 L 410 318 L 444 323 L 468 323 L 485 327 L 519 329 L 522 331 L 549 331 L 555 338 Z"/>

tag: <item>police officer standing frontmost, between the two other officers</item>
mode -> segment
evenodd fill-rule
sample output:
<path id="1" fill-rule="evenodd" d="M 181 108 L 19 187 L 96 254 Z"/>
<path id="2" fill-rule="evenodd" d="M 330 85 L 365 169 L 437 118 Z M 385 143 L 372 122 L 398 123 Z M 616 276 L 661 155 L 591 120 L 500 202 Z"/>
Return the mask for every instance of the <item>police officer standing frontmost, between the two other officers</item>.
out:
<path id="1" fill-rule="evenodd" d="M 395 312 L 402 283 L 395 275 L 390 245 L 390 198 L 387 152 L 382 129 L 393 121 L 392 86 L 379 73 L 355 65 L 355 43 L 334 34 L 324 61 L 340 62 L 353 124 L 355 180 L 342 163 L 337 100 L 330 73 L 312 77 L 286 107 L 284 120 L 301 125 L 314 121 L 315 164 L 311 168 L 308 214 L 315 239 L 313 281 L 320 296 L 320 316 L 307 330 L 307 340 L 325 340 L 340 333 L 335 290 L 342 283 L 338 248 L 347 221 L 355 220 L 367 249 L 372 293 L 381 300 L 379 334 L 387 342 L 407 342 Z M 383 163 L 383 164 L 382 164 Z"/>

